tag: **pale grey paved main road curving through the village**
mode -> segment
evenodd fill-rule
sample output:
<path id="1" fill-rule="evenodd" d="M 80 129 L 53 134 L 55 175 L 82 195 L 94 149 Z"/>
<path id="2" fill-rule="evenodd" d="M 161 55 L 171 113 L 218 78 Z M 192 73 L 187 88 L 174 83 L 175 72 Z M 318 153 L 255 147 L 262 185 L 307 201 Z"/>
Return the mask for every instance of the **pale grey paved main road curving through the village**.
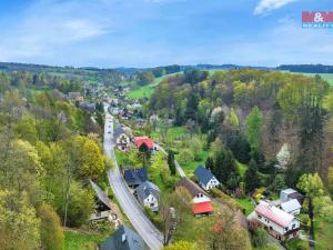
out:
<path id="1" fill-rule="evenodd" d="M 104 108 L 105 109 L 105 108 Z M 120 171 L 119 166 L 115 160 L 112 138 L 113 138 L 113 121 L 111 121 L 111 114 L 105 112 L 105 127 L 104 127 L 104 151 L 108 157 L 111 158 L 114 168 L 109 170 L 108 178 L 113 193 L 119 201 L 122 210 L 128 216 L 132 226 L 137 232 L 144 240 L 147 246 L 151 250 L 159 250 L 163 248 L 163 236 L 162 233 L 152 224 L 152 222 L 145 217 L 141 206 L 138 203 L 137 199 L 130 192 L 128 186 L 125 184 Z M 109 133 L 111 131 L 111 133 Z"/>

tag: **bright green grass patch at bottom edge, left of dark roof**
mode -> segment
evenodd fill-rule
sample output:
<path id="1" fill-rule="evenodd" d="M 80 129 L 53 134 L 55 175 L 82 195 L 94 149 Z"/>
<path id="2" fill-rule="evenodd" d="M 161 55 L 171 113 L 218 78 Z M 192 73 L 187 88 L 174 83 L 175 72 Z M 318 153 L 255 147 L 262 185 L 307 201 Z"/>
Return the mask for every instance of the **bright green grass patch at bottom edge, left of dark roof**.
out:
<path id="1" fill-rule="evenodd" d="M 64 250 L 95 250 L 104 237 L 73 231 L 64 232 Z"/>

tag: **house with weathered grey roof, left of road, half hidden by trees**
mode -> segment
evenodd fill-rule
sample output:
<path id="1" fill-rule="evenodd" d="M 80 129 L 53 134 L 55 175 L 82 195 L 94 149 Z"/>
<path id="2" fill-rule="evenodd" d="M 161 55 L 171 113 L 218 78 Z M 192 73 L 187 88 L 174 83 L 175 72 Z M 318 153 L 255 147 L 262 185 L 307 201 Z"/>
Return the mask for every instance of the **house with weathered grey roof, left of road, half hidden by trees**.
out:
<path id="1" fill-rule="evenodd" d="M 104 220 L 104 219 L 111 220 L 112 219 L 111 204 L 109 202 L 108 196 L 92 180 L 89 181 L 97 197 L 95 212 L 90 216 L 89 220 L 90 221 Z"/>

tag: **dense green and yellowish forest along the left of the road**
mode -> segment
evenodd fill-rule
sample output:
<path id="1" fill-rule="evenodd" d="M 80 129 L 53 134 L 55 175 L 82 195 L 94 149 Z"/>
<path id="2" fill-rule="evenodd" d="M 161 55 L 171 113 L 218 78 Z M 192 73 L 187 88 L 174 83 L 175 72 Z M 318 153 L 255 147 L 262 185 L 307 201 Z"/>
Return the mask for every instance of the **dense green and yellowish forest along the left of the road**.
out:
<path id="1" fill-rule="evenodd" d="M 101 128 L 65 99 L 78 82 L 12 72 L 0 86 L 0 249 L 63 249 L 62 227 L 81 227 L 94 209 Z"/>

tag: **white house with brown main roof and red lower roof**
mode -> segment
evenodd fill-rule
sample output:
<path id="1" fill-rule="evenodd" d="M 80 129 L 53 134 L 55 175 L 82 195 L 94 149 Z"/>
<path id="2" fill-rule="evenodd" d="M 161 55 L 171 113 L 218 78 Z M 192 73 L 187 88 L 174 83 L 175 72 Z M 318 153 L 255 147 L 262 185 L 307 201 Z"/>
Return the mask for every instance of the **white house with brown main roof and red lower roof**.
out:
<path id="1" fill-rule="evenodd" d="M 213 213 L 214 209 L 208 193 L 200 189 L 193 181 L 182 178 L 174 184 L 175 190 L 184 188 L 191 194 L 192 212 L 195 217 Z"/>

